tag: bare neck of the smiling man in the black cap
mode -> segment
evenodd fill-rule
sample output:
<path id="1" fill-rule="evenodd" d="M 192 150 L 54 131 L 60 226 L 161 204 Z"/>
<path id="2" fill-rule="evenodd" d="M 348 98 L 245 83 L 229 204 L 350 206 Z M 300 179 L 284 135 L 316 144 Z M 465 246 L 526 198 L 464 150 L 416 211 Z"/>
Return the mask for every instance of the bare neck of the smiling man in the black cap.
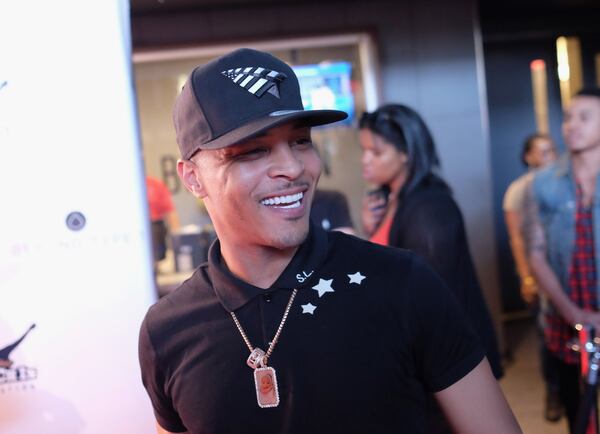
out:
<path id="1" fill-rule="evenodd" d="M 298 246 L 285 250 L 255 246 L 248 248 L 221 242 L 221 256 L 229 271 L 258 288 L 269 288 L 290 263 Z"/>

